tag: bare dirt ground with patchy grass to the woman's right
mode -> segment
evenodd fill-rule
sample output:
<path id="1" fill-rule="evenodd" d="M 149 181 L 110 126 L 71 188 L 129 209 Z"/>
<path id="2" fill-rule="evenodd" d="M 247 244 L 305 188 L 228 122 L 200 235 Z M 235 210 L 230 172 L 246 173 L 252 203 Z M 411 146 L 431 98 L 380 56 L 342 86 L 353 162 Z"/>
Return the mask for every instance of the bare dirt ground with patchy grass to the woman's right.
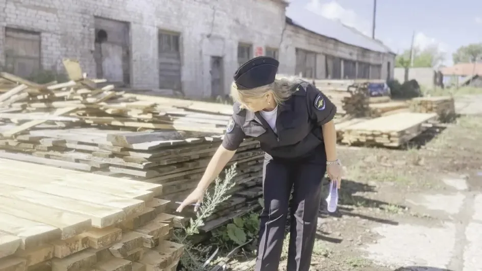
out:
<path id="1" fill-rule="evenodd" d="M 390 260 L 371 260 L 366 248 L 380 241 L 380 234 L 373 230 L 377 227 L 443 223 L 444 219 L 406 203 L 414 194 L 446 192 L 444 178 L 462 178 L 471 191 L 482 190 L 482 116 L 463 116 L 444 126 L 428 131 L 404 150 L 340 147 L 348 173 L 338 211 L 327 213 L 321 208 L 312 271 L 422 270 Z M 403 233 L 400 238 L 404 238 Z M 450 262 L 457 264 L 456 260 Z M 462 270 L 457 268 L 453 271 Z"/>

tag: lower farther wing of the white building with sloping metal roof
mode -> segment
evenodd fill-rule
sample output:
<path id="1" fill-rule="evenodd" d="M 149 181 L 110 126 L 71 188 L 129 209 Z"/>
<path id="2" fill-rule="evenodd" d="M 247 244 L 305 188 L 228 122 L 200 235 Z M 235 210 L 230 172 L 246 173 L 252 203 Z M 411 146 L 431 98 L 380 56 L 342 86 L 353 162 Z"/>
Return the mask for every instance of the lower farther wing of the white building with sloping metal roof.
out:
<path id="1" fill-rule="evenodd" d="M 287 8 L 280 71 L 316 79 L 392 79 L 395 54 L 380 41 L 310 12 Z"/>

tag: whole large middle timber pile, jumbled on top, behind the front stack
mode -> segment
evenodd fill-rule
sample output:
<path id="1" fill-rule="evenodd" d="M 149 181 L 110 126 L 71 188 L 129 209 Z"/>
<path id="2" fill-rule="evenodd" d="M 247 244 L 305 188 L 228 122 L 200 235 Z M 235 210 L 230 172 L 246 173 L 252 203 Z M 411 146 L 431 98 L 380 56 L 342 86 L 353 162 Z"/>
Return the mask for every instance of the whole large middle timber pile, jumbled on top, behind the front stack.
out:
<path id="1" fill-rule="evenodd" d="M 111 85 L 97 88 L 102 80 L 86 79 L 75 61 L 64 65 L 71 81 L 61 84 L 0 73 L 15 84 L 0 95 L 0 158 L 162 184 L 163 199 L 182 201 L 220 145 L 232 106 L 138 100 Z M 227 165 L 237 164 L 232 198 L 207 222 L 259 206 L 262 154 L 258 142 L 242 143 Z"/>

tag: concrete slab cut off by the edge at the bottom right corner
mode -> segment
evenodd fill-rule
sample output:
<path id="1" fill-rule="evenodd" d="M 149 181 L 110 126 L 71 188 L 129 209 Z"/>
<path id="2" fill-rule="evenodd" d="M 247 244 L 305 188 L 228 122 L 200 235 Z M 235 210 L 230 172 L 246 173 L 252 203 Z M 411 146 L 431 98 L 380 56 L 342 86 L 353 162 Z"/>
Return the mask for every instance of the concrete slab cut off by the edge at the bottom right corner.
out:
<path id="1" fill-rule="evenodd" d="M 464 250 L 463 271 L 482 271 L 482 224 L 470 223 L 465 235 L 467 245 Z"/>

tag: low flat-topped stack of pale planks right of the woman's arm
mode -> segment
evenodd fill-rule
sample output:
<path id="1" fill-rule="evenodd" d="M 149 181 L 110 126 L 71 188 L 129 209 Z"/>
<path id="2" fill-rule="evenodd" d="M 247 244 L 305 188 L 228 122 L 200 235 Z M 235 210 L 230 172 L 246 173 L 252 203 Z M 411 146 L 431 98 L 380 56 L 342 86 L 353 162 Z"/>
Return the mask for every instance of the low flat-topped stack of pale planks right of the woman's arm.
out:
<path id="1" fill-rule="evenodd" d="M 398 147 L 420 135 L 427 123 L 435 121 L 435 113 L 401 112 L 373 119 L 352 119 L 336 126 L 346 144 Z"/>

